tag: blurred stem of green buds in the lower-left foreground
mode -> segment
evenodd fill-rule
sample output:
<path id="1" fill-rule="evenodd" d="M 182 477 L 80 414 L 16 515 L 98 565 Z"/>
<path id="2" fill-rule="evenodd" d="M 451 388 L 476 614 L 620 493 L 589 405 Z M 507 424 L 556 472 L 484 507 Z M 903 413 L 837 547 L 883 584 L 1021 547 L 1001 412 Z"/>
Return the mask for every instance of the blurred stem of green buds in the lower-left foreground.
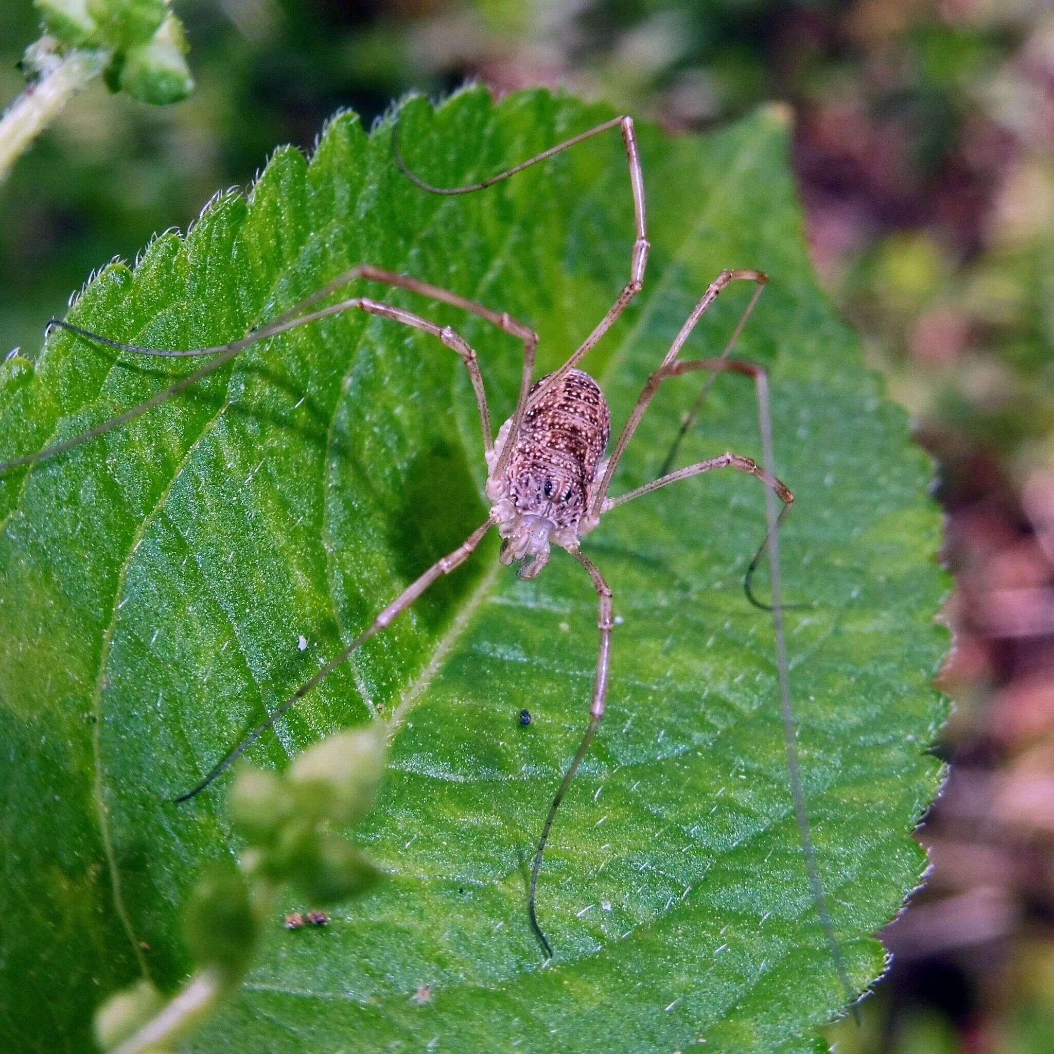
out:
<path id="1" fill-rule="evenodd" d="M 356 823 L 373 807 L 385 754 L 377 724 L 324 739 L 288 773 L 239 767 L 230 795 L 246 847 L 236 860 L 214 862 L 183 905 L 183 935 L 197 972 L 168 1002 L 149 977 L 109 995 L 94 1015 L 102 1050 L 182 1049 L 241 984 L 284 885 L 329 904 L 359 897 L 376 883 L 380 873 L 369 857 L 331 827 Z M 286 850 L 293 842 L 299 852 L 291 856 Z"/>

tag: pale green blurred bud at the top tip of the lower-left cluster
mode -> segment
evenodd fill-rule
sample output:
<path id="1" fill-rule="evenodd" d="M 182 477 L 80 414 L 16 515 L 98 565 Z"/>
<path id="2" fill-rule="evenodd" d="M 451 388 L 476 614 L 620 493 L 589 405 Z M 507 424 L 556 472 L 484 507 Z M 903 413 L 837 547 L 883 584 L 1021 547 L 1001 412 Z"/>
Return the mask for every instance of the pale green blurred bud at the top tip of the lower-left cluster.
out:
<path id="1" fill-rule="evenodd" d="M 355 823 L 372 808 L 385 770 L 379 723 L 339 733 L 305 750 L 289 778 L 306 814 L 333 823 Z"/>

